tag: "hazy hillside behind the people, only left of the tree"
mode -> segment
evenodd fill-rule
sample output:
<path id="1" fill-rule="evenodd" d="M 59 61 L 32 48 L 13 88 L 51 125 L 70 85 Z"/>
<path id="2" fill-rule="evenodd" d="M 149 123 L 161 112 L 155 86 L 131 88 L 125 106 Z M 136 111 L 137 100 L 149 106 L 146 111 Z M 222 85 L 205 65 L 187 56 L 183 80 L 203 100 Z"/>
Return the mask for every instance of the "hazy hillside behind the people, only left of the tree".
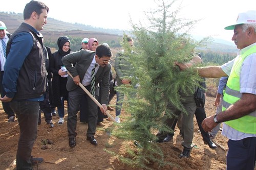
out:
<path id="1" fill-rule="evenodd" d="M 19 27 L 20 23 L 24 21 L 23 14 L 21 13 L 8 14 L 4 12 L 0 12 L 0 20 L 6 24 L 7 31 L 10 33 L 13 33 Z M 62 35 L 71 38 L 72 51 L 78 51 L 80 49 L 80 43 L 84 37 L 94 37 L 99 43 L 107 42 L 111 46 L 120 46 L 119 42 L 123 35 L 122 30 L 95 28 L 78 23 L 63 22 L 53 18 L 48 18 L 47 20 L 47 25 L 40 32 L 44 35 L 46 45 L 50 47 L 57 47 L 56 41 Z"/>

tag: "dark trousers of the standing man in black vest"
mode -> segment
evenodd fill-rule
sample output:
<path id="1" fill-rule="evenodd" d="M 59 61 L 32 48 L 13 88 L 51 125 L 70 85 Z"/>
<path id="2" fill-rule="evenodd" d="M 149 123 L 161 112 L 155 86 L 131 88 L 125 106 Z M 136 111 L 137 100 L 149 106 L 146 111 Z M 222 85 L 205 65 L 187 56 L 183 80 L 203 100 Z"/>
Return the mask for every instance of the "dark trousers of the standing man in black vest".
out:
<path id="1" fill-rule="evenodd" d="M 31 153 L 37 137 L 39 102 L 12 101 L 10 107 L 18 117 L 20 136 L 16 154 L 18 169 L 33 169 Z"/>

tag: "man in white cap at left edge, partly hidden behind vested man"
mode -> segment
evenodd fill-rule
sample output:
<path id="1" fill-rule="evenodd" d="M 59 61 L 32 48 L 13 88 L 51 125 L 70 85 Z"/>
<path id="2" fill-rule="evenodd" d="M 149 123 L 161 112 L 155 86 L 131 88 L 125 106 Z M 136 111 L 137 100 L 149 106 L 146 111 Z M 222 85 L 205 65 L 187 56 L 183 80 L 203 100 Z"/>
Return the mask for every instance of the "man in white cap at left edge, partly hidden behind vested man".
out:
<path id="1" fill-rule="evenodd" d="M 4 66 L 5 66 L 5 61 L 6 61 L 6 45 L 7 42 L 11 36 L 6 31 L 7 27 L 3 21 L 0 21 L 0 65 L 1 65 L 1 73 L 0 73 L 0 92 L 1 92 L 1 97 L 3 98 L 6 95 L 5 89 L 3 87 L 3 76 L 4 76 Z M 15 114 L 13 110 L 10 107 L 9 102 L 2 102 L 4 111 L 6 114 L 8 114 L 8 122 L 14 122 L 15 120 Z"/>

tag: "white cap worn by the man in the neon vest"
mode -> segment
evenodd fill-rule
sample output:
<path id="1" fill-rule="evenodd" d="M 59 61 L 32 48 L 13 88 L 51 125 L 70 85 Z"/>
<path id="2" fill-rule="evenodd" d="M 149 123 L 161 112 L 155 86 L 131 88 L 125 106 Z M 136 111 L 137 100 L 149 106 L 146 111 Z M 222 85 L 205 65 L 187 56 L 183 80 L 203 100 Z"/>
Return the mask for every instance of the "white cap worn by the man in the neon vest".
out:
<path id="1" fill-rule="evenodd" d="M 233 30 L 236 25 L 241 25 L 245 23 L 256 23 L 256 11 L 247 11 L 238 14 L 237 23 L 228 27 L 225 30 Z"/>

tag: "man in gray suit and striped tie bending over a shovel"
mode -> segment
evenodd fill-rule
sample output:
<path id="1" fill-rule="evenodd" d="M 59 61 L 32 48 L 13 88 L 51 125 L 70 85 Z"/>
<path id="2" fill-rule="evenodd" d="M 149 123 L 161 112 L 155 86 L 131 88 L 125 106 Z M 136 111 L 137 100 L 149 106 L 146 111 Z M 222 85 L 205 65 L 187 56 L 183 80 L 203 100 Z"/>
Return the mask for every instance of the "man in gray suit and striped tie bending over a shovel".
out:
<path id="1" fill-rule="evenodd" d="M 62 63 L 66 66 L 67 70 L 73 76 L 68 77 L 67 90 L 69 91 L 69 103 L 68 103 L 68 133 L 69 133 L 69 146 L 71 148 L 76 145 L 76 122 L 77 112 L 79 109 L 81 98 L 86 92 L 78 86 L 81 83 L 88 91 L 91 88 L 97 88 L 98 83 L 101 81 L 101 104 L 103 107 L 100 108 L 102 113 L 107 110 L 107 104 L 109 99 L 109 77 L 111 64 L 112 52 L 109 46 L 99 45 L 96 48 L 96 52 L 81 50 L 76 53 L 71 53 L 62 58 Z M 76 63 L 73 66 L 72 63 Z M 96 72 L 95 84 L 93 81 L 92 73 Z M 91 87 L 91 82 L 94 84 Z M 94 94 L 92 94 L 94 95 Z M 87 140 L 93 145 L 97 145 L 97 140 L 94 138 L 97 124 L 97 105 L 86 94 L 86 100 L 89 107 L 88 115 L 88 130 Z"/>

